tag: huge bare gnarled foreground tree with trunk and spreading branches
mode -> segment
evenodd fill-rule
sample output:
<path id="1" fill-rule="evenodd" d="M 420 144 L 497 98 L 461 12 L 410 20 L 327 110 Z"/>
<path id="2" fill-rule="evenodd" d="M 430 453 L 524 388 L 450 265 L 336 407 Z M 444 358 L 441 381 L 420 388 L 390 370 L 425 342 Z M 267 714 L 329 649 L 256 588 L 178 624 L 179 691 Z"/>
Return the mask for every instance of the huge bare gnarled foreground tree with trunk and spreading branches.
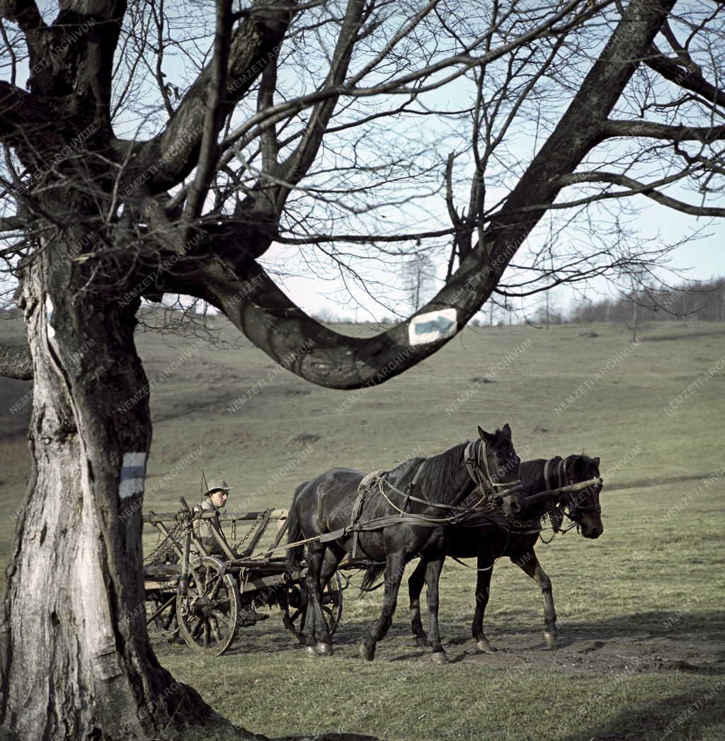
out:
<path id="1" fill-rule="evenodd" d="M 60 0 L 50 19 L 0 2 L 0 257 L 28 340 L 0 372 L 34 383 L 0 720 L 23 738 L 149 737 L 211 714 L 158 664 L 139 610 L 142 299 L 196 297 L 304 379 L 358 388 L 434 353 L 494 292 L 657 262 L 668 246 L 621 218 L 642 199 L 725 213 L 721 3 L 215 7 Z M 360 285 L 411 243 L 449 250 L 418 316 L 455 321 L 425 342 L 410 319 L 336 333 L 278 288 L 275 242 Z"/>

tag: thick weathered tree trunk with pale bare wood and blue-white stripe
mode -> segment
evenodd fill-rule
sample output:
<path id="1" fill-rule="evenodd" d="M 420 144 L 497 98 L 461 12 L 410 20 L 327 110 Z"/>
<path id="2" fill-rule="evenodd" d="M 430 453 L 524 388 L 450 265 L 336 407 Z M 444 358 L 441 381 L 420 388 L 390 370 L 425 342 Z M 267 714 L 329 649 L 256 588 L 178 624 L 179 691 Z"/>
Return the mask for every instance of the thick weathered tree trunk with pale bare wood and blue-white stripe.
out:
<path id="1" fill-rule="evenodd" d="M 151 424 L 137 303 L 84 290 L 67 240 L 43 247 L 22 280 L 33 471 L 0 611 L 0 721 L 23 740 L 158 737 L 212 711 L 159 665 L 147 637 Z"/>

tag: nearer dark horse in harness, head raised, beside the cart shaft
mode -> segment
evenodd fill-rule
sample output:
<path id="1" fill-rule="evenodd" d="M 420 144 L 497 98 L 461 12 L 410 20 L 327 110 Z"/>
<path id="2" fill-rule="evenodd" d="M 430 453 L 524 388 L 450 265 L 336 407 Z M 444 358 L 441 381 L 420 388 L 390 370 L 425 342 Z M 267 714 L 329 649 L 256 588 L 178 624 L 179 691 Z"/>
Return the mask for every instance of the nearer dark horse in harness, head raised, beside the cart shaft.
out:
<path id="1" fill-rule="evenodd" d="M 289 513 L 289 542 L 309 542 L 290 548 L 290 563 L 298 565 L 307 548 L 304 636 L 309 654 L 332 653 L 321 592 L 345 554 L 376 563 L 373 571 L 385 572 L 381 616 L 360 645 L 361 657 L 372 660 L 375 645 L 392 623 L 407 562 L 416 556 L 441 559 L 452 514 L 484 500 L 498 498 L 504 506 L 512 501 L 509 485 L 518 483 L 520 459 L 511 429 L 504 425 L 487 433 L 479 427 L 478 433 L 480 439 L 473 443 L 401 463 L 384 479 L 376 479 L 364 496 L 358 495 L 364 474 L 349 468 L 332 468 L 297 488 Z M 431 635 L 434 658 L 444 659 L 437 625 Z"/>

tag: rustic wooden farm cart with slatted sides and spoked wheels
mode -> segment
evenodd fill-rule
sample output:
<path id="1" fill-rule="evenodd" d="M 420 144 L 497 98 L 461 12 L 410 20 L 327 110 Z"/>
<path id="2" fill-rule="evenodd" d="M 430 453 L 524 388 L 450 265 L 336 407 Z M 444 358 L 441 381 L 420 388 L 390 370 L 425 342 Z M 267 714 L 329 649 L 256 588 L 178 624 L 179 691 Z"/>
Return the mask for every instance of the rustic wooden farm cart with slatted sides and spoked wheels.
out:
<path id="1" fill-rule="evenodd" d="M 183 639 L 199 654 L 219 656 L 233 645 L 239 628 L 254 624 L 250 610 L 278 607 L 287 631 L 301 641 L 307 605 L 305 569 L 290 568 L 281 545 L 287 534 L 287 510 L 193 512 L 184 499 L 181 503 L 178 512 L 144 515 L 144 524 L 160 534 L 144 566 L 150 632 Z M 218 543 L 215 554 L 196 536 L 196 519 L 210 521 Z M 235 551 L 216 522 L 246 528 Z M 340 622 L 343 588 L 341 576 L 335 574 L 323 594 L 330 633 Z"/>

